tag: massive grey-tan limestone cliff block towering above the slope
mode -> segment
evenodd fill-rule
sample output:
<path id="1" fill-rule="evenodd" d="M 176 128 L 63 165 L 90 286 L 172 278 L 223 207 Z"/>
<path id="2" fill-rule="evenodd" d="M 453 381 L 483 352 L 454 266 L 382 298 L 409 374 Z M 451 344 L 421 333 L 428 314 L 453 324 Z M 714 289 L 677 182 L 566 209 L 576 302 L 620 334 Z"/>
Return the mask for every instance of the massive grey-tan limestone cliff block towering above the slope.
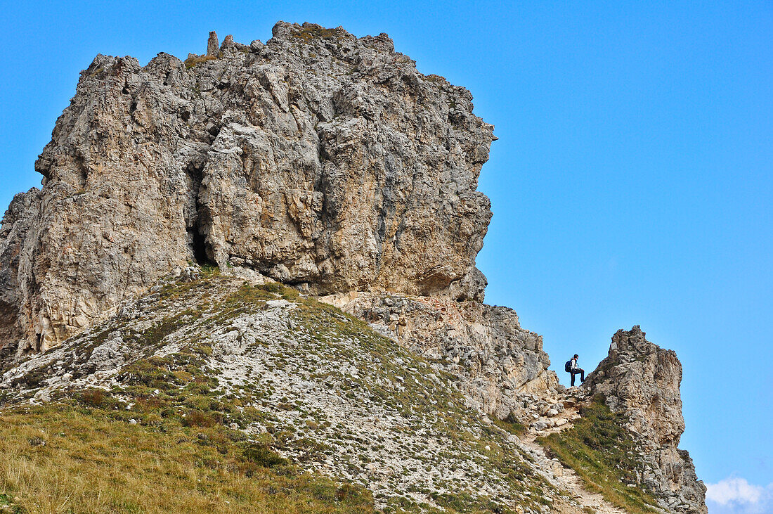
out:
<path id="1" fill-rule="evenodd" d="M 482 299 L 492 126 L 384 34 L 279 22 L 183 63 L 97 56 L 0 232 L 0 346 L 55 346 L 198 260 L 313 293 Z"/>

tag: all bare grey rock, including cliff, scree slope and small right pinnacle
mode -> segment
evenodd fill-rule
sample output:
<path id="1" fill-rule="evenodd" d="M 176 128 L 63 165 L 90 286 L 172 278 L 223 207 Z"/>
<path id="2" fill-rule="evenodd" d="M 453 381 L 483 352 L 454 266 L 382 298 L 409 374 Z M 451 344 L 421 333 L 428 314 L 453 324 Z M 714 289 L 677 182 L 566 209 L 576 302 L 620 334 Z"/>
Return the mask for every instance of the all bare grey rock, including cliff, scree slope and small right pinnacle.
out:
<path id="1" fill-rule="evenodd" d="M 352 467 L 334 452 L 315 466 L 385 498 L 397 491 L 432 505 L 417 471 L 430 466 L 435 492 L 474 488 L 476 498 L 544 512 L 500 465 L 526 451 L 524 484 L 546 480 L 540 495 L 554 512 L 617 512 L 590 496 L 558 498 L 553 489 L 577 491 L 580 479 L 560 478 L 564 470 L 533 441 L 570 427 L 586 392 L 604 394 L 642 441 L 642 485 L 669 512 L 706 512 L 705 488 L 678 449 L 676 354 L 638 327 L 620 331 L 584 389 L 564 394 L 541 337 L 509 308 L 482 304 L 475 257 L 491 213 L 476 188 L 493 139 L 467 90 L 418 73 L 384 34 L 279 22 L 265 44 L 227 36 L 218 46 L 211 32 L 206 54 L 184 63 L 165 53 L 146 66 L 97 56 L 36 162 L 43 188 L 15 196 L 0 227 L 2 397 L 111 389 L 132 363 L 206 339 L 223 393 L 262 388 L 271 397 L 263 407 L 288 426 L 300 418 L 277 410 L 283 395 L 332 415 L 346 437 L 331 425 L 314 437 L 341 437 L 337 451 L 355 460 L 363 454 L 355 442 L 377 431 L 380 443 L 364 454 L 375 463 Z M 232 278 L 199 282 L 193 261 Z M 167 301 L 163 277 L 195 281 L 202 294 L 189 305 Z M 233 277 L 324 295 L 402 349 L 295 297 L 262 298 L 224 321 L 208 305 L 217 297 L 233 308 Z M 304 309 L 324 322 L 297 318 Z M 186 328 L 147 339 L 172 318 Z M 374 359 L 367 345 L 376 343 L 386 353 Z M 523 424 L 532 440 L 522 446 L 481 413 Z M 444 417 L 461 439 L 448 441 Z M 495 468 L 491 445 L 468 444 L 489 436 Z M 455 453 L 443 460 L 447 447 Z M 288 455 L 302 460 L 304 451 Z"/>

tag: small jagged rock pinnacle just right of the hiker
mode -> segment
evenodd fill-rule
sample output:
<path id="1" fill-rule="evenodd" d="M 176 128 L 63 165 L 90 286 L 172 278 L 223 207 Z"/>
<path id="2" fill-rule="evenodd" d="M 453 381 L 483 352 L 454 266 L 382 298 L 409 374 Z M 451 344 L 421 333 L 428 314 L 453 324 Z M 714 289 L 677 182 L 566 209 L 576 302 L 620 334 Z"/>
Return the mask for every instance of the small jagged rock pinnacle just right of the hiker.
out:
<path id="1" fill-rule="evenodd" d="M 706 487 L 696 477 L 690 454 L 678 448 L 685 428 L 681 382 L 676 352 L 647 341 L 636 325 L 612 336 L 608 357 L 583 387 L 604 395 L 612 410 L 628 416 L 628 429 L 640 436 L 642 458 L 650 465 L 642 484 L 662 506 L 671 512 L 705 514 Z"/>

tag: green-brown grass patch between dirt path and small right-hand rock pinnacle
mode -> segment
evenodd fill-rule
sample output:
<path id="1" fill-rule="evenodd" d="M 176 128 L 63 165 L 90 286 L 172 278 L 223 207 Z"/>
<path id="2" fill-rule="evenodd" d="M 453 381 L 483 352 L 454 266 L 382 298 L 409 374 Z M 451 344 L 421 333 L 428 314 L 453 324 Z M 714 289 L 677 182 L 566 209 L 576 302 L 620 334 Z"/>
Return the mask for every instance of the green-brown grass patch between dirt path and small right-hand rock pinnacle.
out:
<path id="1" fill-rule="evenodd" d="M 636 471 L 643 465 L 635 458 L 636 444 L 623 427 L 625 416 L 613 413 L 597 396 L 580 408 L 574 427 L 539 437 L 537 442 L 564 465 L 577 471 L 588 489 L 627 512 L 659 512 L 649 492 L 636 484 Z"/>

